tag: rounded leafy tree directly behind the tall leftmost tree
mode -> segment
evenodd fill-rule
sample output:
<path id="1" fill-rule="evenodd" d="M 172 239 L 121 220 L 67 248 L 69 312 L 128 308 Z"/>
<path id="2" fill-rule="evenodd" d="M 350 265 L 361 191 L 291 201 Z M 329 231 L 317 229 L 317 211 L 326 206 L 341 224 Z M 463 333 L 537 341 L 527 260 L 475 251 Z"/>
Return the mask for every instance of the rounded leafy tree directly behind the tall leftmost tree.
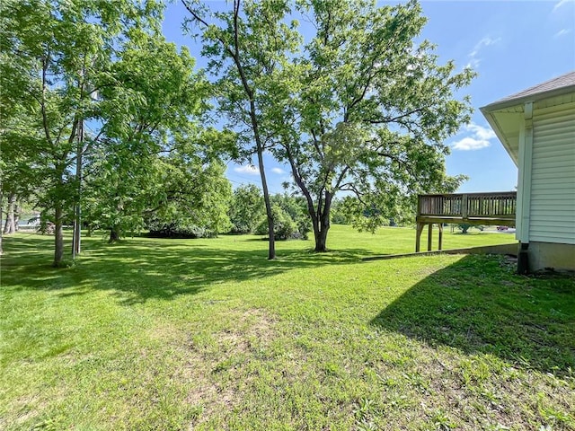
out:
<path id="1" fill-rule="evenodd" d="M 217 158 L 210 149 L 219 136 L 197 124 L 208 109 L 209 85 L 193 67 L 186 48 L 178 52 L 162 36 L 140 32 L 97 81 L 102 133 L 87 136 L 93 151 L 85 186 L 88 216 L 110 230 L 111 242 L 141 228 L 144 214 L 160 205 L 170 189 L 166 165 L 200 152 L 208 162 Z"/>

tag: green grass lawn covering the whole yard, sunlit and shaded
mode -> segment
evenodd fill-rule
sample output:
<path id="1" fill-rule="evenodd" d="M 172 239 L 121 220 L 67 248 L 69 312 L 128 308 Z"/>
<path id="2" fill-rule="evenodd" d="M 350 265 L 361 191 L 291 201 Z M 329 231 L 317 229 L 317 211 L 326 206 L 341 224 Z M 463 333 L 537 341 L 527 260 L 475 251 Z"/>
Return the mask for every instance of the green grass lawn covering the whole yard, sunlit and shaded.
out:
<path id="1" fill-rule="evenodd" d="M 274 261 L 258 237 L 94 237 L 66 269 L 51 238 L 4 238 L 0 429 L 575 429 L 572 277 L 330 235 Z"/>

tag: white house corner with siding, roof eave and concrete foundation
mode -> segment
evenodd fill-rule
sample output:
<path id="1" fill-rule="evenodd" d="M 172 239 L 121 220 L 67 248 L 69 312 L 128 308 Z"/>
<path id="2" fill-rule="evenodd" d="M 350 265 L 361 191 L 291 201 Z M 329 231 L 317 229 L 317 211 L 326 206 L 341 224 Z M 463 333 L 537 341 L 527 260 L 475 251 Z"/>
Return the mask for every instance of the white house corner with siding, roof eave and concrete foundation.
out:
<path id="1" fill-rule="evenodd" d="M 481 110 L 518 168 L 519 271 L 575 269 L 575 71 Z"/>

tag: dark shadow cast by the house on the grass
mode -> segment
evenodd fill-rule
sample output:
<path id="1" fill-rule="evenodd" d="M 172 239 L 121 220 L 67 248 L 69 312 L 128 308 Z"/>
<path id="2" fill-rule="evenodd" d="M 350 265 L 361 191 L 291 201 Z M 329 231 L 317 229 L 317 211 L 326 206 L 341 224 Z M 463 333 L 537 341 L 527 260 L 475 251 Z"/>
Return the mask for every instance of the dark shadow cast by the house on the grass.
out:
<path id="1" fill-rule="evenodd" d="M 466 256 L 411 287 L 371 321 L 429 345 L 542 372 L 575 370 L 575 278 L 521 277 L 504 258 Z"/>

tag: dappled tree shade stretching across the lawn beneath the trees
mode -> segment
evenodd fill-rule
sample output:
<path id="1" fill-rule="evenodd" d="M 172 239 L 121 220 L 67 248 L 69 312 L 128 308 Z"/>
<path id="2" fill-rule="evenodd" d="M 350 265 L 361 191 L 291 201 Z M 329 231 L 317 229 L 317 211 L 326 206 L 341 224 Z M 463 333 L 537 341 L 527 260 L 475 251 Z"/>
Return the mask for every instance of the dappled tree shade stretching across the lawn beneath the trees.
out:
<path id="1" fill-rule="evenodd" d="M 210 247 L 196 240 L 137 239 L 108 245 L 91 238 L 84 242 L 87 248 L 75 267 L 56 269 L 49 267 L 48 240 L 38 235 L 10 238 L 10 253 L 2 261 L 4 286 L 57 289 L 62 296 L 111 290 L 121 303 L 133 304 L 194 295 L 214 284 L 263 279 L 293 268 L 358 262 L 368 253 L 360 249 L 314 253 L 302 250 L 301 243 L 288 242 L 278 251 L 279 259 L 268 260 L 267 249 L 226 251 L 221 242 Z"/>

